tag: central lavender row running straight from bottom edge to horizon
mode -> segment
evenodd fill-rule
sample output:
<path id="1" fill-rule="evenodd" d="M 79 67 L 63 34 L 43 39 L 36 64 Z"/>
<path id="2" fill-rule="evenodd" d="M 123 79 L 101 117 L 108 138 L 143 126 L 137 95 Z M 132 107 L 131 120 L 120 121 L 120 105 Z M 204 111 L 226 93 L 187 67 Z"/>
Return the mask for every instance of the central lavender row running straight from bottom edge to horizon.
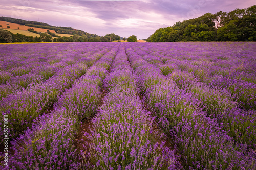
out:
<path id="1" fill-rule="evenodd" d="M 121 45 L 104 86 L 109 91 L 93 119 L 93 141 L 86 144 L 92 169 L 175 169 L 179 167 L 174 151 L 158 142 L 161 133 L 153 129 L 150 113 L 140 100 L 139 88 Z M 88 159 L 86 159 L 88 160 Z"/>

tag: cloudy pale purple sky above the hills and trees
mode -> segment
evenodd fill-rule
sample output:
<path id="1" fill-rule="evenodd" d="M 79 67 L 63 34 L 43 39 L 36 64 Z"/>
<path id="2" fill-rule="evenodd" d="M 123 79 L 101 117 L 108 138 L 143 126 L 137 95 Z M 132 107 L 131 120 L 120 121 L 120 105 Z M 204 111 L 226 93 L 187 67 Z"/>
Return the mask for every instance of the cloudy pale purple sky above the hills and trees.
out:
<path id="1" fill-rule="evenodd" d="M 0 16 L 45 22 L 104 36 L 146 39 L 158 28 L 205 13 L 255 5 L 253 0 L 1 0 Z"/>

